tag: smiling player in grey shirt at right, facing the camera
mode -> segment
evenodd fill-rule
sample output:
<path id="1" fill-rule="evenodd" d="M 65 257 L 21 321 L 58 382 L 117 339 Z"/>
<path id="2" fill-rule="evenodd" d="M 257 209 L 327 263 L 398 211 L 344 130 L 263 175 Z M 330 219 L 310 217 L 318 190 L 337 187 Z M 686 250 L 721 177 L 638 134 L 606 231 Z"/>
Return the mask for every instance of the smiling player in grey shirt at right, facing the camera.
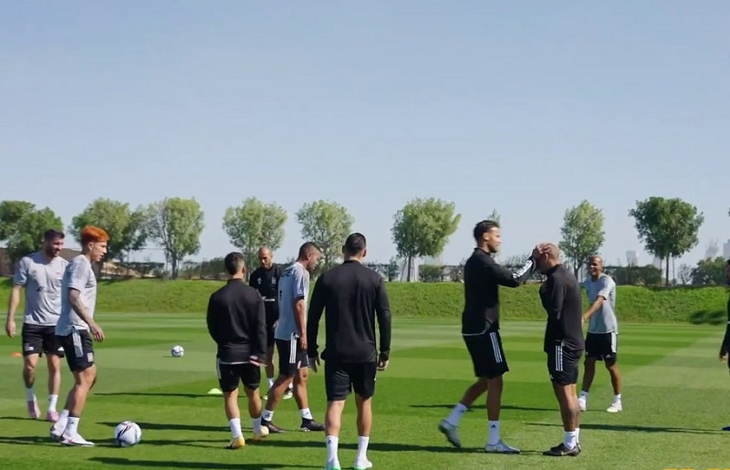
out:
<path id="1" fill-rule="evenodd" d="M 603 360 L 610 374 L 613 386 L 613 402 L 606 409 L 609 413 L 619 413 L 621 406 L 621 379 L 619 366 L 616 365 L 619 335 L 619 321 L 616 318 L 616 283 L 603 273 L 603 260 L 600 256 L 589 259 L 590 277 L 584 282 L 590 308 L 583 314 L 583 321 L 589 320 L 586 336 L 586 362 L 583 373 L 583 387 L 578 398 L 581 411 L 586 411 L 588 393 L 596 375 L 596 361 Z"/>

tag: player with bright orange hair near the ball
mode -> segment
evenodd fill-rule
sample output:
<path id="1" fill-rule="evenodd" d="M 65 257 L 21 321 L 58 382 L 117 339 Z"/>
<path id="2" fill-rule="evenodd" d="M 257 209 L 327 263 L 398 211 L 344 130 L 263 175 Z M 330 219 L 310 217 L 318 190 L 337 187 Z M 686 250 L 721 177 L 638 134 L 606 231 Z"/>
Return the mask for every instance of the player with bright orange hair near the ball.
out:
<path id="1" fill-rule="evenodd" d="M 104 331 L 94 321 L 97 277 L 92 266 L 106 255 L 109 238 L 99 227 L 84 227 L 81 254 L 68 264 L 63 277 L 56 336 L 66 351 L 68 368 L 73 372 L 75 383 L 68 392 L 64 410 L 51 427 L 51 438 L 64 445 L 94 445 L 78 433 L 78 421 L 89 390 L 97 380 L 93 339 L 104 340 Z"/>

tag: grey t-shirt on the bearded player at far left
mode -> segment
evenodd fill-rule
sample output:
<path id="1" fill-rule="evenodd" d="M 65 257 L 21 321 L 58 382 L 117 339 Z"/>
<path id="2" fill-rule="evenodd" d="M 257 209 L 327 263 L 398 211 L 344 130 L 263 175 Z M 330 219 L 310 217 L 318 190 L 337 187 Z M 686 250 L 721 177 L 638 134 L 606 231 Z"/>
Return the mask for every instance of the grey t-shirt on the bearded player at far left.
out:
<path id="1" fill-rule="evenodd" d="M 16 276 L 16 286 L 26 288 L 26 310 L 23 323 L 52 327 L 61 313 L 61 282 L 68 265 L 61 256 L 50 261 L 42 253 L 36 252 L 20 258 Z"/>

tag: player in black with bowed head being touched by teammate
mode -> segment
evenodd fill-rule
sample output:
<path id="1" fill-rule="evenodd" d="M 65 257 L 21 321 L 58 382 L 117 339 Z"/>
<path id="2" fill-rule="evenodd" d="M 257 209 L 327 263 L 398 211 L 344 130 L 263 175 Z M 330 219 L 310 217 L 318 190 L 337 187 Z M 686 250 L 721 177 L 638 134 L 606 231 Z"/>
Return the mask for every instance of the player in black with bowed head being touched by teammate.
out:
<path id="1" fill-rule="evenodd" d="M 563 419 L 563 442 L 543 455 L 580 454 L 580 406 L 576 394 L 579 360 L 585 350 L 583 339 L 583 297 L 578 279 L 560 263 L 560 250 L 554 244 L 541 244 L 533 256 L 537 268 L 547 276 L 540 286 L 540 300 L 547 312 L 545 342 L 547 371 L 558 399 Z"/>

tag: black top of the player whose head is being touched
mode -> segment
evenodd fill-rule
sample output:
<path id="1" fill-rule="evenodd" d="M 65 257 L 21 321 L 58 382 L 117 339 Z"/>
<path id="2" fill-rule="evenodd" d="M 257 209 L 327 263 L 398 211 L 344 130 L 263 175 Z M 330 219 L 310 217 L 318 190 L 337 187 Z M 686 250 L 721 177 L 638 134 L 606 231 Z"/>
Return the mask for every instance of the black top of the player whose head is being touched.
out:
<path id="1" fill-rule="evenodd" d="M 547 312 L 545 342 L 548 352 L 561 344 L 567 350 L 584 350 L 583 298 L 578 280 L 565 266 L 553 266 L 540 286 L 540 300 Z"/>

